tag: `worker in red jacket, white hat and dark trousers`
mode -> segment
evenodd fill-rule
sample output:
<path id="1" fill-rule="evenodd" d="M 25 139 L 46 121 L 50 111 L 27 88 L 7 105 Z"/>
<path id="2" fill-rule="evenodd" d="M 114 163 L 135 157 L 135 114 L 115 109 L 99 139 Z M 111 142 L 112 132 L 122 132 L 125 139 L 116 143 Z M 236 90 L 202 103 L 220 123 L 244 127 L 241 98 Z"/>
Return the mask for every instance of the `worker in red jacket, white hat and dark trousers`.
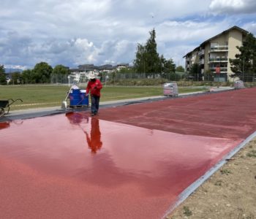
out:
<path id="1" fill-rule="evenodd" d="M 89 76 L 89 82 L 86 88 L 86 96 L 91 93 L 91 116 L 97 115 L 99 110 L 99 98 L 102 83 L 96 78 L 94 74 Z"/>

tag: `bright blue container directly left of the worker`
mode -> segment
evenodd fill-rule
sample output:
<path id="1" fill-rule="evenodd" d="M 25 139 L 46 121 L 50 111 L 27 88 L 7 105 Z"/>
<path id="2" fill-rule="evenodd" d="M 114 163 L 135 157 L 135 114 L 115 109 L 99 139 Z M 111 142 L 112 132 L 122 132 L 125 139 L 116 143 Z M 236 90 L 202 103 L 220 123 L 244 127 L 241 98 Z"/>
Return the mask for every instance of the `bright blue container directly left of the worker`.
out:
<path id="1" fill-rule="evenodd" d="M 81 93 L 80 89 L 72 89 L 69 93 L 69 106 L 76 107 L 83 105 L 89 105 L 89 98 L 86 96 L 86 93 Z"/>

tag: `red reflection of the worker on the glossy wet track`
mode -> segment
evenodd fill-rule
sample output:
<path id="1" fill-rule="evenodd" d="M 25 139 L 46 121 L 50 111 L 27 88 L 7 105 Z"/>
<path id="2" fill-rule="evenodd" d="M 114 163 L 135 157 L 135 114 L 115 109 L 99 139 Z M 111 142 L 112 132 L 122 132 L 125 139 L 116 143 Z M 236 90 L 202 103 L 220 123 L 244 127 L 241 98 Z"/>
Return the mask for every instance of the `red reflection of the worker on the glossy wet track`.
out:
<path id="1" fill-rule="evenodd" d="M 91 138 L 89 134 L 86 133 L 86 140 L 91 148 L 91 153 L 96 153 L 102 147 L 102 142 L 100 140 L 101 133 L 99 131 L 99 119 L 91 118 Z"/>

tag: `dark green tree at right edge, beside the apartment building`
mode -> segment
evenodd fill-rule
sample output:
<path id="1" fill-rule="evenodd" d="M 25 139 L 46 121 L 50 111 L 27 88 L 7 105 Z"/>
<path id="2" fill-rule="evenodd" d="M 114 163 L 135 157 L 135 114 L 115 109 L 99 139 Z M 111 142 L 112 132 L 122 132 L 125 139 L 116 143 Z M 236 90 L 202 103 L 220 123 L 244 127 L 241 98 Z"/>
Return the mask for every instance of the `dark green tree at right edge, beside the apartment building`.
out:
<path id="1" fill-rule="evenodd" d="M 235 55 L 236 58 L 230 58 L 232 76 L 252 81 L 256 76 L 256 38 L 251 33 L 247 34 L 243 45 L 237 48 L 240 53 Z"/>

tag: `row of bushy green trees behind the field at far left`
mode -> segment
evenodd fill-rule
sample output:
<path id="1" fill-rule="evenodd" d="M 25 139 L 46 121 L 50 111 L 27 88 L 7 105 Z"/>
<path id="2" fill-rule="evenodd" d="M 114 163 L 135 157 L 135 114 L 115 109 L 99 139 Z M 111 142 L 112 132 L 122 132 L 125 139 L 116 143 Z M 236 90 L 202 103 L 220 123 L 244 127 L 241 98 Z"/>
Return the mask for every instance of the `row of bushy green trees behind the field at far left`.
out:
<path id="1" fill-rule="evenodd" d="M 0 84 L 6 85 L 7 80 L 4 74 L 4 66 L 0 66 Z M 70 74 L 69 68 L 57 65 L 54 68 L 46 62 L 40 62 L 34 66 L 34 69 L 24 70 L 12 73 L 10 84 L 35 84 L 35 83 L 49 83 L 51 74 Z"/>

